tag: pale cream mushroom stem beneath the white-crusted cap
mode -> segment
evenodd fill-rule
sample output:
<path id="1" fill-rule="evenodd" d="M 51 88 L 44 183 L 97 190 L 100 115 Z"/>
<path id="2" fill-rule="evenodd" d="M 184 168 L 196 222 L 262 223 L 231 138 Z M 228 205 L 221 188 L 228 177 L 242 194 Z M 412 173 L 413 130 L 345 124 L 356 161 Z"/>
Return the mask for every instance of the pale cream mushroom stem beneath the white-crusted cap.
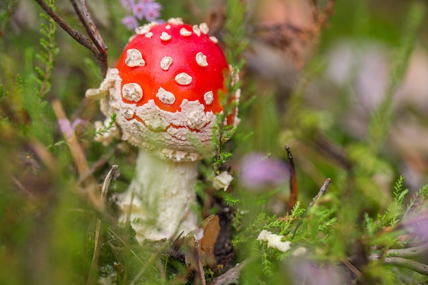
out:
<path id="1" fill-rule="evenodd" d="M 193 187 L 198 165 L 198 161 L 167 161 L 139 150 L 134 178 L 118 203 L 119 221 L 131 221 L 139 243 L 170 239 L 197 228 L 191 205 L 196 204 Z"/>

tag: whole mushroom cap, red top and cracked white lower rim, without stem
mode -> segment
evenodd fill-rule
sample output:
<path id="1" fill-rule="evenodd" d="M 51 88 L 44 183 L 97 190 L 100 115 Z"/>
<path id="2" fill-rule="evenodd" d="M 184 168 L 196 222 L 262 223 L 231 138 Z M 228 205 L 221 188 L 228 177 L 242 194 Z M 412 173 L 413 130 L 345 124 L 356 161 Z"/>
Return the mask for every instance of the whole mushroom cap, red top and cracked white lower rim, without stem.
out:
<path id="1" fill-rule="evenodd" d="M 230 76 L 226 57 L 204 23 L 192 27 L 174 18 L 135 31 L 117 68 L 107 73 L 110 96 L 103 112 L 117 113 L 131 144 L 193 161 L 201 147 L 211 145 L 215 114 L 223 111 L 219 95 L 226 94 Z M 232 96 L 238 98 L 239 92 Z M 236 113 L 237 107 L 227 124 L 239 122 Z"/>

